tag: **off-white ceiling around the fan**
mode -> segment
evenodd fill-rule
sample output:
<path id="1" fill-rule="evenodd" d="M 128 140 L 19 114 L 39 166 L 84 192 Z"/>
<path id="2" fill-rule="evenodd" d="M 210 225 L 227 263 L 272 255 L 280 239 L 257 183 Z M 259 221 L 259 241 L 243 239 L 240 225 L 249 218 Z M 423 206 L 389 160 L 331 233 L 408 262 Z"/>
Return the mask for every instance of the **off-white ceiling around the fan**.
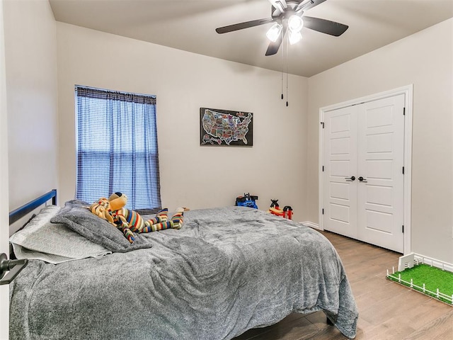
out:
<path id="1" fill-rule="evenodd" d="M 453 0 L 328 0 L 305 14 L 348 25 L 343 35 L 303 28 L 301 42 L 265 57 L 272 24 L 222 35 L 215 28 L 270 18 L 268 0 L 49 2 L 57 21 L 304 77 L 453 17 Z"/>

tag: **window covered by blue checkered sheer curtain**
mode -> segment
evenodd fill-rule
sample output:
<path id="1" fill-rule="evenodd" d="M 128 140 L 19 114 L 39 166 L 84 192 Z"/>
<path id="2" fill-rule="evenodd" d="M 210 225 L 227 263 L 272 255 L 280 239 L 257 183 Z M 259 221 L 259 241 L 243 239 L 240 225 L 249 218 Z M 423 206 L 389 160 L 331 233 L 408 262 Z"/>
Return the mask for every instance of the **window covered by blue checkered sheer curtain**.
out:
<path id="1" fill-rule="evenodd" d="M 156 96 L 76 86 L 76 123 L 76 198 L 120 192 L 129 209 L 159 210 Z"/>

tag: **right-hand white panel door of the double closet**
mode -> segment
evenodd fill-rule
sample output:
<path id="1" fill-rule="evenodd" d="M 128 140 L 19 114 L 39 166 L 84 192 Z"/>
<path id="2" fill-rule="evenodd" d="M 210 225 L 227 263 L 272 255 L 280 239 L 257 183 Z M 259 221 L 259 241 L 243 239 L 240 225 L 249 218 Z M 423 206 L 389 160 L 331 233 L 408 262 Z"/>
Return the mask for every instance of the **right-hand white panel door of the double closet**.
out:
<path id="1" fill-rule="evenodd" d="M 357 238 L 402 253 L 404 95 L 358 108 Z"/>

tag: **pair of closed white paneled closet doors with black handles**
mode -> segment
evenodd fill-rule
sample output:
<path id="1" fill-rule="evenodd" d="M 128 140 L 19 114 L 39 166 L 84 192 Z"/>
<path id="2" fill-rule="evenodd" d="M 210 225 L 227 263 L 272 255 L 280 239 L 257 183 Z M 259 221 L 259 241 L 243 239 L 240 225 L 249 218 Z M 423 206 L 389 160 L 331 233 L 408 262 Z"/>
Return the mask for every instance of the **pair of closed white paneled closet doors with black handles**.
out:
<path id="1" fill-rule="evenodd" d="M 404 95 L 324 113 L 323 229 L 403 252 Z"/>

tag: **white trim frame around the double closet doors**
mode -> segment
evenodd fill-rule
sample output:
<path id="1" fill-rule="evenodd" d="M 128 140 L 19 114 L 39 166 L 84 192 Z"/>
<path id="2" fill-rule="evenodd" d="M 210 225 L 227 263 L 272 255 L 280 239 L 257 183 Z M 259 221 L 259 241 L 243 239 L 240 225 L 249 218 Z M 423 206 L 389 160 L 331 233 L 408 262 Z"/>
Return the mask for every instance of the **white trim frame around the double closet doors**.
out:
<path id="1" fill-rule="evenodd" d="M 413 113 L 413 84 L 402 86 L 397 89 L 380 92 L 378 94 L 372 94 L 369 96 L 355 98 L 350 101 L 343 101 L 330 106 L 324 106 L 319 108 L 319 229 L 323 230 L 323 157 L 324 157 L 324 145 L 323 145 L 323 121 L 324 114 L 329 111 L 337 110 L 338 108 L 345 108 L 361 103 L 367 103 L 369 101 L 376 101 L 383 98 L 389 98 L 404 94 L 404 108 L 405 108 L 405 119 L 404 119 L 404 202 L 403 202 L 403 225 L 404 225 L 404 236 L 403 236 L 403 251 L 404 254 L 411 252 L 411 196 L 412 196 L 412 113 Z"/>

